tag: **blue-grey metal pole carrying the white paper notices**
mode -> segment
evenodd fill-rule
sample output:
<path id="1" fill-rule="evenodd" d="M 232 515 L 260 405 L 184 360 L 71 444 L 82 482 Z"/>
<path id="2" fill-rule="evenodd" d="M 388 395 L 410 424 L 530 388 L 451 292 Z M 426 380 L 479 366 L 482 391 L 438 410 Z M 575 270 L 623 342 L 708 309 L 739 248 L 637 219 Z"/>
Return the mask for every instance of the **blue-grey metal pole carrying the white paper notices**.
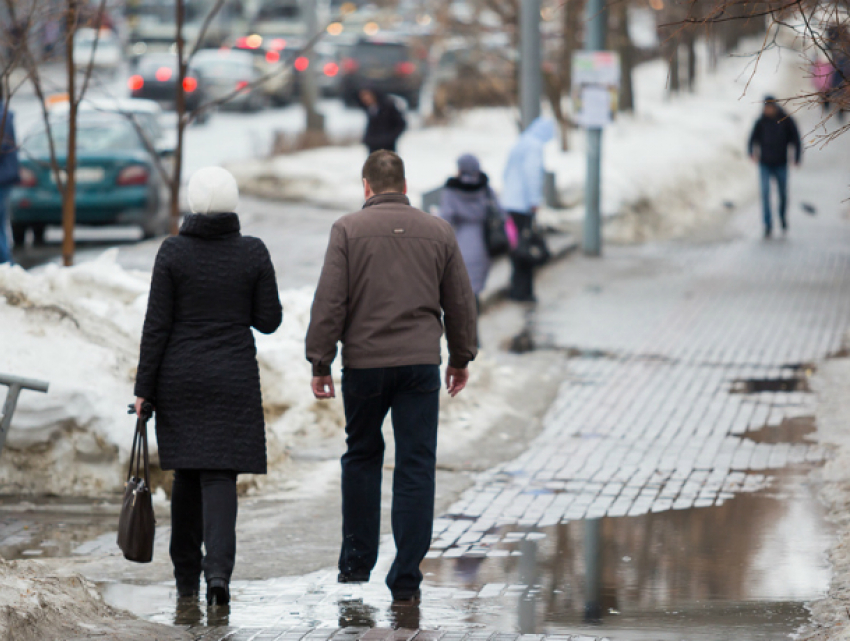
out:
<path id="1" fill-rule="evenodd" d="M 606 0 L 587 2 L 587 51 L 605 49 L 608 28 Z M 602 129 L 587 130 L 587 180 L 585 183 L 584 253 L 599 256 L 602 253 L 602 216 L 600 215 L 602 184 Z"/>

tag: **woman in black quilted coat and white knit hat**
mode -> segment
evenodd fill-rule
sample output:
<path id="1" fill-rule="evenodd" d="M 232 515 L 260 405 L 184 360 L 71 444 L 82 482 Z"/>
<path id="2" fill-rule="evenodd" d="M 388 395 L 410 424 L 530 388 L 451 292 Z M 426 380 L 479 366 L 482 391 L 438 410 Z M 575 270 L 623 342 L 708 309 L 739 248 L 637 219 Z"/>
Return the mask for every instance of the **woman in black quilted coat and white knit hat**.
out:
<path id="1" fill-rule="evenodd" d="M 136 373 L 136 410 L 156 410 L 162 469 L 174 470 L 171 560 L 177 592 L 230 600 L 236 560 L 236 477 L 265 474 L 260 372 L 251 328 L 271 334 L 283 312 L 274 267 L 242 236 L 233 176 L 219 167 L 189 182 L 180 234 L 160 247 Z M 202 554 L 201 545 L 206 549 Z"/>

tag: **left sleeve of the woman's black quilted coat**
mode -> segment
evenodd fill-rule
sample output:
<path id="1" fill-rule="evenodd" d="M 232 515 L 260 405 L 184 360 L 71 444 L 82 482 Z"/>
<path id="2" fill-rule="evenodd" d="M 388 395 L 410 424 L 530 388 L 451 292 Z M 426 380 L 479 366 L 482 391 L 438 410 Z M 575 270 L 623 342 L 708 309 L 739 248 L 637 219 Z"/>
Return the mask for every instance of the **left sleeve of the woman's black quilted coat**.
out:
<path id="1" fill-rule="evenodd" d="M 169 266 L 171 243 L 167 240 L 159 248 L 151 276 L 148 311 L 142 329 L 139 367 L 136 370 L 135 394 L 145 399 L 156 396 L 156 379 L 162 356 L 171 336 L 174 321 L 174 280 Z"/>

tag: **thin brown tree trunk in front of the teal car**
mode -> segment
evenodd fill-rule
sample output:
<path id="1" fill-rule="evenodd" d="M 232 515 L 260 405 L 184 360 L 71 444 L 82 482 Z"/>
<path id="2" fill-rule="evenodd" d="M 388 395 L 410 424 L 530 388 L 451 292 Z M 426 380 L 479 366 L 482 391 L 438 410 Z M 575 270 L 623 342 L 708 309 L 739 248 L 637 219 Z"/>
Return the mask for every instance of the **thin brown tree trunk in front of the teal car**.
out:
<path id="1" fill-rule="evenodd" d="M 74 225 L 77 198 L 77 90 L 74 70 L 74 32 L 77 27 L 78 0 L 68 0 L 65 16 L 65 68 L 68 74 L 68 150 L 65 160 L 65 189 L 62 193 L 62 264 L 74 264 Z"/>

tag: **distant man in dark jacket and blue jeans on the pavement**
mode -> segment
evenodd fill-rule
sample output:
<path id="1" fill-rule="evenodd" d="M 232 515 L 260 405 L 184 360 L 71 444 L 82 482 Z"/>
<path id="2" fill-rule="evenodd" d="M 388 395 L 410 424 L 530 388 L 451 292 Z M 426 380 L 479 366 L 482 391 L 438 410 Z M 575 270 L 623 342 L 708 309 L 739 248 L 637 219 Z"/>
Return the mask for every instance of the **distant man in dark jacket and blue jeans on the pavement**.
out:
<path id="1" fill-rule="evenodd" d="M 762 214 L 764 237 L 773 233 L 773 217 L 770 210 L 770 181 L 776 181 L 779 190 L 779 223 L 782 231 L 788 231 L 788 147 L 794 149 L 794 164 L 800 164 L 802 141 L 797 123 L 785 113 L 773 96 L 764 99 L 764 110 L 750 134 L 748 153 L 759 164 L 761 180 Z"/>

